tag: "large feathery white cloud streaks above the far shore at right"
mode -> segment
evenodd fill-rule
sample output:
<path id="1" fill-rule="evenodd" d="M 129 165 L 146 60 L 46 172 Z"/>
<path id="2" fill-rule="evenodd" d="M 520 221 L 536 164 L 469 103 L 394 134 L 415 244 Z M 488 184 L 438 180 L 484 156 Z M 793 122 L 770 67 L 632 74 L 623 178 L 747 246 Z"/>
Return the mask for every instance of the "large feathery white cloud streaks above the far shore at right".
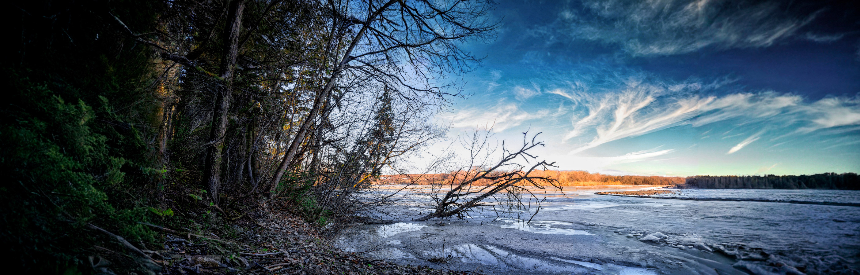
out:
<path id="1" fill-rule="evenodd" d="M 613 140 L 645 135 L 679 125 L 701 127 L 710 123 L 737 121 L 740 124 L 778 125 L 787 135 L 808 134 L 821 129 L 860 125 L 860 94 L 853 98 L 828 97 L 808 102 L 801 96 L 772 91 L 703 96 L 722 84 L 698 81 L 661 81 L 643 75 L 621 77 L 609 87 L 587 89 L 587 84 L 557 88 L 550 93 L 575 103 L 572 128 L 564 140 L 590 139 L 570 154 Z M 576 81 L 570 81 L 576 83 Z M 761 131 L 728 150 L 739 151 L 765 134 Z M 728 135 L 725 138 L 732 137 Z M 776 140 L 776 139 L 775 139 Z"/>

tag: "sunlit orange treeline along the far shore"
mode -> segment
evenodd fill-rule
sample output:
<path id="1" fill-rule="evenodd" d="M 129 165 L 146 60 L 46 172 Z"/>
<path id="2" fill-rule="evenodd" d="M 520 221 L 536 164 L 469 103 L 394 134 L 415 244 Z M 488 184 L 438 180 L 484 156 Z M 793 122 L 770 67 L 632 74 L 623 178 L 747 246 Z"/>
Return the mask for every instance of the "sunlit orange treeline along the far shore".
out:
<path id="1" fill-rule="evenodd" d="M 384 184 L 445 185 L 451 184 L 453 174 L 386 175 L 380 177 L 378 182 Z M 582 170 L 534 170 L 531 172 L 531 176 L 550 176 L 550 178 L 556 179 L 561 186 L 676 185 L 685 182 L 685 178 L 679 176 L 611 176 Z M 477 182 L 476 185 L 482 185 L 482 182 Z"/>

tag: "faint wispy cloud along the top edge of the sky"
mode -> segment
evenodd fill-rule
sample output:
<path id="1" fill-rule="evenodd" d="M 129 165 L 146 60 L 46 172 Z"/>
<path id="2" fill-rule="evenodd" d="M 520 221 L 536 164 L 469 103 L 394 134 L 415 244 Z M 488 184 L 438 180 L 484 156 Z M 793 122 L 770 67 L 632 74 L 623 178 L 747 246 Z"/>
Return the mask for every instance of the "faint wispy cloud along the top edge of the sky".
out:
<path id="1" fill-rule="evenodd" d="M 796 36 L 817 12 L 786 1 L 583 0 L 562 11 L 574 39 L 621 45 L 634 56 L 767 47 Z M 840 39 L 808 34 L 806 39 Z"/>

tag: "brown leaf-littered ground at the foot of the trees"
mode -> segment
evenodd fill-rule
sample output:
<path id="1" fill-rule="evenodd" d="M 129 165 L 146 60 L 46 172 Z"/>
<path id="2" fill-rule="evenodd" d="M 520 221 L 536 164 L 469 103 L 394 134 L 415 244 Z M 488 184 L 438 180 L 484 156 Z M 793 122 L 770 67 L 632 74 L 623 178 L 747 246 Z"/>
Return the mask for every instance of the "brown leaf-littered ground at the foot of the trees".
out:
<path id="1" fill-rule="evenodd" d="M 163 274 L 463 274 L 404 266 L 343 252 L 316 226 L 273 207 L 262 207 L 239 223 L 237 237 L 168 235 L 163 249 L 151 251 Z M 173 231 L 173 230 L 171 230 Z"/>

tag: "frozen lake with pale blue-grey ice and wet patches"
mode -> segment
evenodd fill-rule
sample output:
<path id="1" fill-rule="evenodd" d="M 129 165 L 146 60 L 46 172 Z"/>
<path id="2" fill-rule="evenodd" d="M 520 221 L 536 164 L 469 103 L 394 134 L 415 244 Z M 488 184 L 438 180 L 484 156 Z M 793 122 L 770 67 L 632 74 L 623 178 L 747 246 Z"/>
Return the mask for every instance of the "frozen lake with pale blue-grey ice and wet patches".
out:
<path id="1" fill-rule="evenodd" d="M 854 190 L 684 189 L 670 200 L 593 194 L 653 186 L 567 187 L 541 210 L 464 219 L 358 225 L 341 248 L 403 264 L 488 274 L 857 274 L 860 203 Z M 406 191 L 387 212 L 420 217 Z M 774 201 L 748 201 L 774 200 Z M 800 201 L 790 203 L 784 201 Z M 385 217 L 383 217 L 385 218 Z M 390 219 L 390 218 L 389 218 Z M 443 262 L 440 262 L 439 259 Z"/>

